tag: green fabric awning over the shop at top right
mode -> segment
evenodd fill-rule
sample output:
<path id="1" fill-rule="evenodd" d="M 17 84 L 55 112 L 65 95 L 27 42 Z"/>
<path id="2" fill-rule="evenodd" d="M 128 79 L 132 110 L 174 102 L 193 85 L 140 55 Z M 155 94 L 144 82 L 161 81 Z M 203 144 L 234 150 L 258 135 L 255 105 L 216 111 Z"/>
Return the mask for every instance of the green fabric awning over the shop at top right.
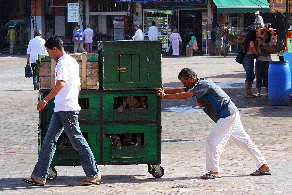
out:
<path id="1" fill-rule="evenodd" d="M 213 0 L 217 6 L 217 13 L 234 12 L 269 12 L 270 7 L 267 0 Z"/>

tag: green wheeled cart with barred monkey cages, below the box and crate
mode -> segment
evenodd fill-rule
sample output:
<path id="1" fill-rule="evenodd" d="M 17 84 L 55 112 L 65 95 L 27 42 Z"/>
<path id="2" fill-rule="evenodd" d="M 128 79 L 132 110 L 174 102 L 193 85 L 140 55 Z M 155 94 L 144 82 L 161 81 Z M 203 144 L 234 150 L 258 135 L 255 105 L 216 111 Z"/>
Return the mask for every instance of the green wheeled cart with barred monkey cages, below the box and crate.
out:
<path id="1" fill-rule="evenodd" d="M 42 100 L 50 90 L 40 90 Z M 147 97 L 146 108 L 118 112 L 124 97 Z M 147 164 L 156 178 L 164 174 L 161 164 L 161 98 L 155 89 L 144 90 L 81 90 L 79 93 L 79 125 L 98 165 Z M 54 109 L 50 100 L 39 112 L 39 152 Z M 121 140 L 121 149 L 112 145 L 112 136 Z M 55 166 L 81 165 L 78 153 L 61 134 L 47 179 L 58 173 Z M 62 150 L 60 149 L 62 148 Z"/>

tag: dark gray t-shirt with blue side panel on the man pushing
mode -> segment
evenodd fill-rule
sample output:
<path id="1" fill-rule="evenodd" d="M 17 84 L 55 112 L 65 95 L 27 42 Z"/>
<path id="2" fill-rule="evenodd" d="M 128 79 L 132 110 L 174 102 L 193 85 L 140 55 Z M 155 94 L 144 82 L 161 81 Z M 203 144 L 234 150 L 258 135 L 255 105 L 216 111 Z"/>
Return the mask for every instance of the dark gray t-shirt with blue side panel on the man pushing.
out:
<path id="1" fill-rule="evenodd" d="M 215 123 L 238 112 L 230 97 L 211 79 L 199 78 L 192 88 L 184 90 L 189 90 L 197 97 L 199 106 Z"/>

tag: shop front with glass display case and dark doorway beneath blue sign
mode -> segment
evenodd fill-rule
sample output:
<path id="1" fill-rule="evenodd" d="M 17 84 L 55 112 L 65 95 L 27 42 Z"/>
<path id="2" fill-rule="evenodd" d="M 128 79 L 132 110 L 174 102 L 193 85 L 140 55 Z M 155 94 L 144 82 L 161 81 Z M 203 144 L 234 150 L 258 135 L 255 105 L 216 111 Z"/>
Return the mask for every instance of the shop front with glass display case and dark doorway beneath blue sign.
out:
<path id="1" fill-rule="evenodd" d="M 178 29 L 182 38 L 181 51 L 184 52 L 191 36 L 195 36 L 199 50 L 203 50 L 202 29 L 208 28 L 207 0 L 194 1 L 147 1 L 142 2 L 143 32 L 147 40 L 147 32 L 151 22 L 158 27 L 159 40 L 163 47 L 167 46 L 173 29 Z M 205 48 L 206 50 L 206 48 Z"/>

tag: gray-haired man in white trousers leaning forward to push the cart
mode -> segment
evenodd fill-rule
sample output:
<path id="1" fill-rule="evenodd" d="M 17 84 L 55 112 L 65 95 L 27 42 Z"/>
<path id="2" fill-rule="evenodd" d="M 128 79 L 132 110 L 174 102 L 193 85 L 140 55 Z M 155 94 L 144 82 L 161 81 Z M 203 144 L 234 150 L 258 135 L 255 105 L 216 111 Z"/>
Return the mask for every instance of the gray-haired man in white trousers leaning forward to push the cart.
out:
<path id="1" fill-rule="evenodd" d="M 196 96 L 199 106 L 216 123 L 207 137 L 206 170 L 209 172 L 201 179 L 221 177 L 219 159 L 230 137 L 256 163 L 258 170 L 251 175 L 271 175 L 267 173 L 271 170 L 270 166 L 245 132 L 238 109 L 230 97 L 210 79 L 198 78 L 190 68 L 182 69 L 178 74 L 178 79 L 185 88 L 157 88 L 157 96 L 164 99 L 187 99 Z"/>

